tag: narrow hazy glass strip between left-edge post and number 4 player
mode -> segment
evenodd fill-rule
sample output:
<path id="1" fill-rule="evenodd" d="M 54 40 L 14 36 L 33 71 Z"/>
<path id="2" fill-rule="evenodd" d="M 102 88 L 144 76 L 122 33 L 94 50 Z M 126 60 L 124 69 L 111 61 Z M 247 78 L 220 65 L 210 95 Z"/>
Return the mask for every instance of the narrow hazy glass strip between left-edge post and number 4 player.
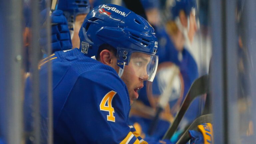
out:
<path id="1" fill-rule="evenodd" d="M 51 143 L 50 1 L 23 2 L 25 143 Z M 43 70 L 42 70 L 43 69 Z M 39 73 L 44 73 L 43 79 Z M 40 94 L 45 94 L 42 97 Z M 49 96 L 50 98 L 48 98 Z M 51 102 L 50 102 L 51 103 Z M 43 109 L 43 107 L 45 107 Z M 49 108 L 48 108 L 49 107 Z"/>

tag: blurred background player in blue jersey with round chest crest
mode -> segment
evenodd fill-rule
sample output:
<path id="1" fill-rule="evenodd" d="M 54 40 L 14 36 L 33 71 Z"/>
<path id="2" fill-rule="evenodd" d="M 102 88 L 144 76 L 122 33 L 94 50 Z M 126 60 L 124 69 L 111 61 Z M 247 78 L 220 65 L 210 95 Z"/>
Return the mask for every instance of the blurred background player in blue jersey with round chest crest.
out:
<path id="1" fill-rule="evenodd" d="M 145 1 L 147 0 L 143 0 L 142 2 Z M 149 7 L 149 3 L 146 4 L 146 6 Z M 166 5 L 168 6 L 168 4 Z M 153 5 L 153 8 L 154 6 L 155 5 Z M 156 36 L 159 40 L 159 68 L 166 67 L 168 70 L 168 67 L 172 68 L 173 65 L 178 66 L 179 80 L 177 81 L 179 81 L 180 84 L 178 84 L 178 88 L 173 88 L 173 90 L 170 91 L 170 93 L 172 93 L 171 96 L 176 97 L 169 98 L 170 102 L 167 105 L 168 108 L 165 107 L 165 111 L 160 115 L 160 120 L 152 134 L 153 137 L 158 139 L 161 139 L 167 131 L 191 84 L 198 77 L 197 64 L 190 52 L 185 48 L 185 43 L 189 44 L 193 41 L 194 34 L 198 29 L 196 23 L 196 2 L 194 0 L 175 0 L 171 4 L 169 13 L 171 14 L 171 17 L 166 23 L 166 27 L 155 25 Z M 158 72 L 160 73 L 160 69 Z M 169 75 L 171 74 L 172 73 L 169 73 Z M 156 108 L 157 105 L 159 105 L 156 103 L 160 99 L 159 95 L 161 94 L 159 91 L 161 91 L 161 88 L 158 88 L 158 91 L 154 89 L 157 89 L 156 85 L 159 87 L 159 81 L 168 79 L 166 72 L 162 77 L 163 79 L 161 80 L 161 77 L 158 77 L 157 74 L 156 80 L 151 84 L 151 87 L 144 87 L 140 90 L 140 97 L 138 100 L 143 102 L 142 110 L 144 109 L 145 111 L 151 107 Z M 174 83 L 177 81 L 174 81 Z M 150 92 L 151 89 L 153 89 L 152 92 Z M 159 97 L 153 97 L 152 95 L 157 95 Z M 196 99 L 187 111 L 182 123 L 186 125 L 192 122 L 200 114 L 200 106 L 200 99 Z M 142 106 L 140 106 L 140 108 L 141 107 Z M 152 117 L 154 117 L 154 115 L 138 111 L 138 106 L 134 108 L 135 110 L 132 109 L 134 115 L 130 118 L 131 123 L 138 122 L 141 124 L 143 132 L 148 135 L 149 128 L 152 125 Z M 144 113 L 144 117 L 141 116 L 141 112 Z M 169 115 L 167 115 L 168 113 Z"/>

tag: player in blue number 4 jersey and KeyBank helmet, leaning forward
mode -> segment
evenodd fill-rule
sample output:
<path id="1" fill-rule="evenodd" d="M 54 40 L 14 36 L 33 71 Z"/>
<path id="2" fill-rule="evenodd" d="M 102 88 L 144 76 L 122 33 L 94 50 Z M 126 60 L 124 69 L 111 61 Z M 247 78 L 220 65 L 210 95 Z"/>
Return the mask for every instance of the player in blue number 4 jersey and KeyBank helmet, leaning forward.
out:
<path id="1" fill-rule="evenodd" d="M 134 12 L 105 4 L 88 13 L 79 37 L 80 49 L 55 52 L 38 65 L 45 122 L 46 63 L 52 63 L 54 142 L 147 143 L 128 116 L 143 81 L 153 81 L 157 70 L 154 29 Z"/>

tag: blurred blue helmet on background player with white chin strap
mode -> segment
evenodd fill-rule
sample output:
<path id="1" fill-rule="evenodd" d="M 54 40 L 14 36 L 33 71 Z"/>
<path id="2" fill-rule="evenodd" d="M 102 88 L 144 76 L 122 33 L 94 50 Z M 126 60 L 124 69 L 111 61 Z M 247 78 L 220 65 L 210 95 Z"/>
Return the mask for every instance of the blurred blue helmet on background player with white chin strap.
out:
<path id="1" fill-rule="evenodd" d="M 197 5 L 196 0 L 172 0 L 170 5 L 171 19 L 175 19 L 179 16 L 181 10 L 184 10 L 186 16 L 190 15 L 190 12 L 193 12 L 194 15 L 197 15 Z"/>

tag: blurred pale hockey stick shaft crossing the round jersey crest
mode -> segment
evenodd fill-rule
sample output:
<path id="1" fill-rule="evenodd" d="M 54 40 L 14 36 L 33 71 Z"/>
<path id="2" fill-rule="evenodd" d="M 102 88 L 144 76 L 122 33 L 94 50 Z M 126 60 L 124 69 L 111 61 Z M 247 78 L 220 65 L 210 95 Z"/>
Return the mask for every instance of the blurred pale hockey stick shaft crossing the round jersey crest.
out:
<path id="1" fill-rule="evenodd" d="M 164 110 L 165 106 L 167 105 L 168 101 L 169 101 L 169 98 L 171 96 L 171 90 L 172 90 L 172 87 L 173 87 L 173 82 L 174 82 L 174 78 L 176 75 L 178 75 L 179 73 L 179 67 L 177 67 L 176 65 L 174 65 L 174 70 L 173 70 L 173 73 L 170 77 L 170 80 L 167 84 L 167 86 L 165 87 L 165 89 L 163 90 L 163 93 L 160 95 L 160 101 L 159 101 L 159 104 L 157 106 L 157 111 L 156 111 L 156 114 L 155 114 L 155 117 L 148 129 L 148 134 L 149 135 L 152 135 L 154 130 L 155 130 L 155 127 L 158 123 L 158 120 L 159 120 L 159 115 L 161 114 L 161 112 Z"/>

